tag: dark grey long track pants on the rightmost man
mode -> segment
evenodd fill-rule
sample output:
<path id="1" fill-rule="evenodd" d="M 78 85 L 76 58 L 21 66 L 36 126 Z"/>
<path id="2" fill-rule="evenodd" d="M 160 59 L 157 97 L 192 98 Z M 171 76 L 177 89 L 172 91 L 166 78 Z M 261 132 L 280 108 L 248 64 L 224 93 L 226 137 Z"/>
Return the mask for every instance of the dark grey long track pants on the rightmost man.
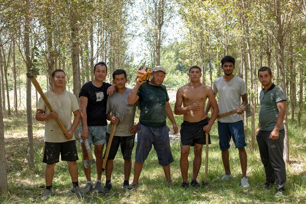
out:
<path id="1" fill-rule="evenodd" d="M 280 130 L 280 137 L 270 139 L 272 131 L 259 131 L 256 136 L 259 152 L 264 166 L 266 185 L 276 182 L 278 191 L 284 192 L 286 182 L 286 166 L 283 159 L 284 153 L 284 129 Z"/>

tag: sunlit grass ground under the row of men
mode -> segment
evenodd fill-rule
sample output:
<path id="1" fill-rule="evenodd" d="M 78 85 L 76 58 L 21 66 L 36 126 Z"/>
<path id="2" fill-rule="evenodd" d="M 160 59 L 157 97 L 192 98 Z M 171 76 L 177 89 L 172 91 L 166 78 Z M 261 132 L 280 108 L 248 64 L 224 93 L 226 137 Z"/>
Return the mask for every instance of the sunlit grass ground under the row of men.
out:
<path id="1" fill-rule="evenodd" d="M 33 113 L 34 114 L 34 113 Z M 208 184 L 199 188 L 181 189 L 181 175 L 179 168 L 180 147 L 179 142 L 171 144 L 175 161 L 171 164 L 174 186 L 167 186 L 162 168 L 158 165 L 154 150 L 144 164 L 140 176 L 140 185 L 136 191 L 124 192 L 123 183 L 123 159 L 117 154 L 114 160 L 112 174 L 113 188 L 106 195 L 90 193 L 81 200 L 70 192 L 71 179 L 66 162 L 60 162 L 55 167 L 53 180 L 53 196 L 42 202 L 40 197 L 44 193 L 44 167 L 41 162 L 44 145 L 44 124 L 34 119 L 33 132 L 35 143 L 35 169 L 27 166 L 27 132 L 25 113 L 12 116 L 4 120 L 6 167 L 8 173 L 9 191 L 2 194 L 2 204 L 223 204 L 223 203 L 306 203 L 306 181 L 302 177 L 306 175 L 306 136 L 305 128 L 300 128 L 294 123 L 289 123 L 290 163 L 286 164 L 287 182 L 286 195 L 274 197 L 274 189 L 262 189 L 260 185 L 265 181 L 264 170 L 257 146 L 251 150 L 246 147 L 248 154 L 247 175 L 250 187 L 244 189 L 240 186 L 241 169 L 238 150 L 230 148 L 230 164 L 234 180 L 220 181 L 224 174 L 221 162 L 217 124 L 211 132 L 212 144 L 209 146 Z M 178 125 L 182 117 L 175 116 Z M 305 121 L 304 121 L 305 122 Z M 171 125 L 169 124 L 169 127 Z M 247 139 L 250 143 L 250 138 Z M 85 186 L 86 179 L 81 165 L 81 147 L 77 144 L 79 153 L 79 184 Z M 192 149 L 191 149 L 192 150 Z M 135 151 L 135 148 L 134 148 Z M 132 160 L 134 160 L 133 151 Z M 193 159 L 193 154 L 189 160 Z M 203 149 L 202 166 L 198 181 L 204 180 L 205 148 Z M 191 178 L 192 162 L 190 162 L 189 178 Z M 132 167 L 133 173 L 133 167 Z M 103 182 L 105 177 L 103 173 Z M 92 178 L 96 174 L 93 171 Z M 130 182 L 132 181 L 132 175 Z"/>

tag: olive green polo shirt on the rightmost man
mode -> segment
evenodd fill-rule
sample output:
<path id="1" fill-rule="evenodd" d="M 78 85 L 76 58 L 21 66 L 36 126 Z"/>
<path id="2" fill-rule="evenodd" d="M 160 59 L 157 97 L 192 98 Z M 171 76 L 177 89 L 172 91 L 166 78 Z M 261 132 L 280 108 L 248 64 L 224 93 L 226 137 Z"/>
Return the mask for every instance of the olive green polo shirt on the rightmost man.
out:
<path id="1" fill-rule="evenodd" d="M 261 124 L 261 130 L 272 131 L 274 129 L 276 119 L 278 116 L 278 109 L 276 104 L 286 100 L 284 91 L 272 84 L 272 86 L 264 92 L 261 91 L 260 102 L 261 110 L 259 112 L 259 122 Z M 280 127 L 280 130 L 284 129 L 284 124 Z"/>

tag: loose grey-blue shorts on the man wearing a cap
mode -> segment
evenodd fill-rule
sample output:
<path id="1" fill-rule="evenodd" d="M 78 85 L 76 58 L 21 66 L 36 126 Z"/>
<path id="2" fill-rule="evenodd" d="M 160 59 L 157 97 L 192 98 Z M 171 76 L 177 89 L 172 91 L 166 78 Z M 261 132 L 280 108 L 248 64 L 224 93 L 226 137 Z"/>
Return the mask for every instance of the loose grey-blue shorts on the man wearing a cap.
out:
<path id="1" fill-rule="evenodd" d="M 135 161 L 144 163 L 153 145 L 159 165 L 167 166 L 172 163 L 174 159 L 170 148 L 169 131 L 166 124 L 153 127 L 140 123 L 137 132 Z"/>

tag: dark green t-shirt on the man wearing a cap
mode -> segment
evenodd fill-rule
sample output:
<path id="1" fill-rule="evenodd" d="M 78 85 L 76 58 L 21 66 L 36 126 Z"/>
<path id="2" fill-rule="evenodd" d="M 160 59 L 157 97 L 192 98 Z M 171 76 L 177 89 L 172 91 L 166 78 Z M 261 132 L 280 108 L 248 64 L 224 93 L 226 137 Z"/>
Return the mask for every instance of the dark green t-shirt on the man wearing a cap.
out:
<path id="1" fill-rule="evenodd" d="M 166 102 L 169 101 L 164 85 L 153 86 L 149 83 L 141 85 L 137 91 L 139 96 L 139 122 L 148 126 L 160 126 L 166 123 Z"/>

